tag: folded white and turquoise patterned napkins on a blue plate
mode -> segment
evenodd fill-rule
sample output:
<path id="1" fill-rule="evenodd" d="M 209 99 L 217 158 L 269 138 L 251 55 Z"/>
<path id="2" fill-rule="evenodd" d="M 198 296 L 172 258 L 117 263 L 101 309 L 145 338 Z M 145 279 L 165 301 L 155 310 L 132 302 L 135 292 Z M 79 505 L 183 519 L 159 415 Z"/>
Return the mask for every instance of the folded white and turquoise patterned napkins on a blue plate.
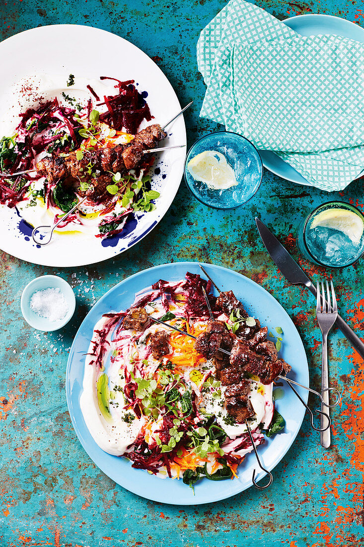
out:
<path id="1" fill-rule="evenodd" d="M 311 184 L 345 188 L 364 169 L 364 44 L 303 37 L 243 0 L 201 32 L 201 117 L 273 150 Z"/>

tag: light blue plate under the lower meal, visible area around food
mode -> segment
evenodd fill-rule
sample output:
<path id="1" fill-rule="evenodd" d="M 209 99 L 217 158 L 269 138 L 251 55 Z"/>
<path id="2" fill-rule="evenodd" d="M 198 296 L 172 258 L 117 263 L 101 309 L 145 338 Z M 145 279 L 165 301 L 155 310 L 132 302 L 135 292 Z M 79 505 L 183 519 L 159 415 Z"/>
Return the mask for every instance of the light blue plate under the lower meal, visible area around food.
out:
<path id="1" fill-rule="evenodd" d="M 218 287 L 223 290 L 233 290 L 242 300 L 252 316 L 258 317 L 263 325 L 275 333 L 275 327 L 283 329 L 283 347 L 281 356 L 292 363 L 294 370 L 290 377 L 308 386 L 309 373 L 306 353 L 295 325 L 283 307 L 278 304 L 265 289 L 237 272 L 221 266 L 204 264 Z M 86 427 L 81 409 L 80 394 L 82 389 L 85 353 L 89 344 L 95 323 L 103 313 L 125 310 L 134 301 L 134 293 L 149 287 L 159 279 L 178 281 L 185 277 L 187 271 L 203 274 L 195 262 L 180 262 L 155 266 L 134 274 L 109 290 L 91 309 L 81 324 L 69 353 L 66 372 L 66 393 L 69 414 L 75 432 L 85 451 L 92 461 L 117 484 L 144 498 L 156 502 L 175 505 L 196 505 L 199 503 L 216 502 L 242 492 L 252 485 L 251 476 L 257 467 L 254 453 L 245 457 L 238 468 L 238 479 L 225 481 L 209 481 L 202 479 L 195 485 L 195 495 L 191 488 L 182 480 L 160 479 L 149 475 L 144 470 L 133 469 L 131 463 L 118 456 L 111 456 L 101 450 L 92 439 Z M 283 382 L 285 383 L 285 382 Z M 298 388 L 300 389 L 300 388 Z M 300 391 L 307 401 L 307 391 Z M 285 418 L 284 433 L 267 439 L 265 445 L 259 447 L 259 455 L 263 465 L 271 470 L 289 450 L 300 430 L 304 416 L 304 407 L 298 401 L 291 389 L 284 386 L 284 397 L 277 401 L 277 409 Z M 257 479 L 265 475 L 259 470 Z M 275 477 L 279 481 L 279 476 Z"/>

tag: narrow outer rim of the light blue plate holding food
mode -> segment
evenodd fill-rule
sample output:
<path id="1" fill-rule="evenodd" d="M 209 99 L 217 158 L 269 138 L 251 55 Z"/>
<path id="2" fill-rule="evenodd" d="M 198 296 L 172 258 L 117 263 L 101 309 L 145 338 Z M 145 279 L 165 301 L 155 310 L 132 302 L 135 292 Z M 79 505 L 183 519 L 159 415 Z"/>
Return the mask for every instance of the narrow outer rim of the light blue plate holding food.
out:
<path id="1" fill-rule="evenodd" d="M 198 498 L 197 496 L 191 496 L 191 499 L 187 499 L 187 497 L 186 497 L 186 499 L 183 499 L 183 500 L 181 500 L 179 498 L 178 501 L 173 501 L 170 498 L 168 498 L 168 488 L 167 488 L 167 494 L 163 493 L 163 490 L 164 490 L 163 488 L 161 489 L 162 494 L 161 494 L 161 492 L 159 492 L 157 490 L 155 492 L 153 492 L 152 494 L 150 494 L 150 493 L 146 494 L 143 491 L 143 487 L 144 487 L 143 484 L 138 485 L 138 486 L 136 486 L 135 484 L 128 484 L 126 486 L 125 482 L 127 481 L 127 477 L 124 480 L 121 480 L 120 478 L 116 479 L 115 476 L 110 476 L 110 470 L 108 469 L 108 466 L 104 465 L 103 461 L 101 461 L 101 462 L 97 461 L 96 462 L 95 459 L 92 457 L 90 452 L 92 452 L 95 448 L 96 448 L 96 450 L 101 450 L 101 449 L 99 449 L 99 447 L 97 446 L 95 441 L 93 441 L 93 439 L 91 438 L 90 446 L 88 446 L 85 443 L 85 441 L 83 440 L 82 433 L 80 431 L 80 428 L 78 426 L 77 421 L 75 420 L 74 413 L 73 413 L 72 394 L 71 394 L 72 386 L 71 386 L 71 380 L 70 380 L 69 376 L 71 374 L 73 354 L 74 354 L 74 351 L 75 351 L 75 345 L 77 344 L 78 336 L 82 336 L 82 330 L 84 328 L 86 328 L 87 320 L 90 317 L 90 315 L 95 312 L 95 308 L 97 306 L 101 306 L 108 299 L 108 297 L 110 296 L 111 293 L 116 291 L 118 288 L 120 288 L 127 281 L 135 280 L 136 278 L 138 278 L 140 276 L 143 276 L 143 275 L 147 274 L 148 272 L 150 272 L 152 270 L 158 272 L 158 270 L 163 270 L 166 267 L 167 268 L 170 268 L 170 267 L 173 268 L 173 266 L 174 267 L 175 266 L 183 266 L 185 271 L 191 271 L 191 269 L 193 271 L 193 267 L 198 268 L 198 264 L 202 264 L 204 267 L 207 267 L 208 269 L 214 269 L 214 270 L 218 270 L 220 272 L 230 272 L 230 274 L 232 274 L 234 277 L 236 276 L 238 279 L 239 278 L 243 279 L 244 282 L 248 282 L 248 284 L 252 284 L 258 290 L 263 291 L 263 293 L 265 294 L 266 298 L 268 298 L 268 300 L 271 300 L 274 303 L 274 305 L 278 305 L 278 309 L 280 310 L 280 312 L 283 313 L 283 316 L 291 324 L 290 326 L 293 328 L 293 332 L 295 332 L 295 335 L 297 334 L 298 346 L 299 346 L 299 349 L 302 352 L 302 357 L 304 357 L 303 364 L 302 364 L 302 370 L 300 370 L 300 372 L 302 374 L 304 374 L 305 380 L 307 378 L 307 385 L 309 383 L 309 369 L 308 369 L 306 351 L 304 350 L 303 342 L 302 342 L 301 337 L 300 337 L 300 335 L 299 335 L 299 333 L 298 333 L 298 331 L 295 327 L 295 324 L 292 322 L 292 319 L 290 318 L 288 313 L 285 311 L 284 307 L 281 306 L 281 304 L 274 298 L 274 296 L 271 293 L 269 293 L 265 288 L 260 286 L 255 281 L 251 280 L 249 277 L 246 277 L 243 274 L 240 274 L 239 272 L 228 269 L 224 266 L 208 264 L 208 263 L 198 263 L 198 262 L 192 262 L 192 261 L 182 261 L 182 262 L 161 264 L 161 265 L 157 265 L 157 266 L 152 266 L 148 269 L 136 272 L 136 274 L 132 274 L 131 276 L 126 277 L 125 280 L 122 280 L 120 283 L 116 284 L 114 287 L 109 289 L 103 296 L 101 296 L 101 298 L 92 306 L 91 310 L 87 313 L 86 317 L 84 318 L 83 322 L 81 323 L 81 325 L 80 325 L 80 327 L 79 327 L 79 329 L 78 329 L 78 331 L 77 331 L 77 333 L 74 337 L 73 344 L 71 346 L 71 350 L 69 351 L 69 357 L 68 357 L 67 369 L 66 369 L 66 399 L 67 399 L 68 411 L 69 411 L 69 415 L 71 417 L 73 428 L 75 430 L 75 433 L 77 434 L 77 437 L 78 437 L 78 440 L 79 440 L 80 444 L 83 446 L 83 449 L 85 450 L 87 455 L 91 458 L 92 462 L 99 469 L 101 469 L 101 471 L 103 473 L 105 473 L 105 475 L 109 476 L 109 478 L 111 478 L 111 480 L 114 480 L 116 482 L 116 484 L 119 484 L 120 486 L 126 488 L 126 490 L 128 490 L 130 492 L 133 492 L 134 494 L 137 494 L 138 496 L 141 496 L 143 498 L 150 499 L 152 501 L 156 501 L 156 502 L 160 502 L 160 503 L 172 504 L 172 505 L 199 505 L 199 504 L 204 504 L 204 503 L 212 503 L 212 502 L 221 501 L 222 499 L 227 499 L 231 496 L 234 496 L 238 493 L 241 493 L 241 492 L 247 490 L 250 486 L 253 485 L 253 482 L 250 480 L 244 486 L 239 481 L 233 481 L 234 482 L 234 488 L 229 489 L 228 488 L 229 485 L 227 483 L 231 483 L 232 481 L 221 481 L 218 484 L 224 484 L 225 483 L 226 489 L 224 490 L 222 488 L 221 492 L 219 494 L 216 494 L 214 496 L 207 496 L 207 497 L 206 496 L 204 496 L 204 497 L 201 496 L 200 498 Z M 157 278 L 157 276 L 156 276 L 156 278 Z M 160 277 L 158 277 L 158 278 L 160 278 Z M 143 285 L 143 287 L 139 287 L 139 289 L 144 288 L 144 287 L 145 287 L 145 284 Z M 134 294 L 133 294 L 133 296 L 134 296 Z M 254 302 L 253 303 L 249 302 L 249 304 L 254 306 Z M 100 317 L 101 317 L 101 315 L 100 315 Z M 95 325 L 95 322 L 93 322 L 93 325 Z M 88 350 L 88 347 L 89 346 L 87 344 L 86 352 Z M 297 349 L 297 353 L 298 353 L 298 349 Z M 305 390 L 304 392 L 301 392 L 301 397 L 307 403 L 308 391 Z M 269 471 L 271 471 L 281 461 L 281 459 L 285 456 L 287 451 L 289 451 L 290 447 L 292 446 L 292 444 L 294 443 L 294 441 L 295 441 L 295 439 L 298 435 L 298 432 L 301 429 L 301 425 L 302 425 L 304 415 L 305 415 L 305 410 L 302 406 L 302 411 L 301 411 L 300 418 L 298 418 L 298 420 L 296 421 L 295 432 L 292 434 L 291 439 L 289 441 L 289 444 L 286 445 L 284 451 L 279 453 L 279 456 L 276 457 L 276 459 L 275 459 L 275 461 L 273 462 L 272 465 L 267 465 L 266 466 Z M 87 431 L 87 433 L 88 433 L 88 431 Z M 103 453 L 103 455 L 106 454 L 103 451 L 101 451 L 101 452 Z M 108 459 L 107 456 L 110 456 L 110 455 L 106 455 L 106 457 L 104 456 L 105 459 Z M 115 456 L 110 456 L 110 457 L 114 458 Z M 132 469 L 133 472 L 135 471 L 135 472 L 143 473 L 143 477 L 145 477 L 145 478 L 146 477 L 148 477 L 148 478 L 151 477 L 150 475 L 146 474 L 145 471 L 143 471 L 143 470 L 133 469 L 133 468 L 130 468 L 130 469 Z M 264 476 L 266 476 L 266 473 L 259 471 L 259 473 L 256 474 L 256 480 L 259 481 Z M 158 483 L 156 483 L 156 484 L 159 484 L 160 486 L 162 485 L 162 482 L 164 482 L 163 479 L 158 479 L 157 477 L 153 477 L 153 478 L 155 480 L 158 480 Z M 138 482 L 138 481 L 136 481 L 136 482 Z M 141 482 L 143 482 L 143 480 Z M 168 482 L 167 482 L 167 484 L 168 484 Z M 171 484 L 171 483 L 169 483 L 169 484 Z M 216 482 L 215 482 L 215 484 L 216 484 Z M 190 488 L 188 488 L 186 486 L 186 490 L 185 490 L 186 496 L 187 496 L 187 491 L 190 492 L 191 490 L 190 490 Z"/>

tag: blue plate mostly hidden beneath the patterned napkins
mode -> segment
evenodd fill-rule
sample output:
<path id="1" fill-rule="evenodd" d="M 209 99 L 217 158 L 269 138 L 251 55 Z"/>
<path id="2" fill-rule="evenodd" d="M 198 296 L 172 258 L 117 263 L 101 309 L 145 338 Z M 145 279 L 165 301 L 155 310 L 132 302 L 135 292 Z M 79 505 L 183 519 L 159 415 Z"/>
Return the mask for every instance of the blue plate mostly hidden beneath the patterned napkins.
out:
<path id="1" fill-rule="evenodd" d="M 357 40 L 357 42 L 364 42 L 364 28 L 351 21 L 334 17 L 333 15 L 297 15 L 285 19 L 282 22 L 302 36 L 332 34 L 333 36 L 342 36 L 343 38 Z M 271 150 L 259 150 L 259 153 L 263 165 L 269 169 L 269 171 L 272 171 L 272 173 L 278 174 L 279 177 L 285 178 L 286 181 L 297 182 L 298 184 L 304 184 L 306 186 L 312 185 L 306 178 L 302 177 L 295 168 L 287 164 Z M 360 173 L 357 178 L 361 177 L 361 175 L 362 173 Z"/>

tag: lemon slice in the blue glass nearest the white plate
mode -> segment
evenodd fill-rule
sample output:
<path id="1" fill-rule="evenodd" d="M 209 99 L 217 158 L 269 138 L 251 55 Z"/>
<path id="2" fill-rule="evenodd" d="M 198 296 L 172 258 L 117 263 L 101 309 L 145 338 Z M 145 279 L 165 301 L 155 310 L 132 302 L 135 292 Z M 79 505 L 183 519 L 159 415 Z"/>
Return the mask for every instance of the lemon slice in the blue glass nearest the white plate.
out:
<path id="1" fill-rule="evenodd" d="M 204 182 L 210 190 L 227 190 L 238 181 L 224 154 L 215 150 L 205 150 L 197 154 L 187 164 L 187 171 L 195 181 Z"/>

